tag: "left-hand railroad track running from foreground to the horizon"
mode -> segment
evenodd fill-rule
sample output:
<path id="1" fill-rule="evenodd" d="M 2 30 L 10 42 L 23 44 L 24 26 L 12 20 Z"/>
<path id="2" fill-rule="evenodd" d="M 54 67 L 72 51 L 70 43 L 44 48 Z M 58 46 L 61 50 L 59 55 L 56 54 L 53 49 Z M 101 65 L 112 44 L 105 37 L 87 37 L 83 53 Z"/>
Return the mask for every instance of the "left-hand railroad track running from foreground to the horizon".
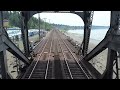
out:
<path id="1" fill-rule="evenodd" d="M 37 52 L 40 53 L 37 60 L 34 60 L 32 62 L 31 66 L 28 68 L 22 79 L 47 79 L 52 77 L 52 65 L 50 62 L 50 53 L 52 47 L 52 37 L 50 36 L 52 36 L 52 34 L 53 33 L 51 32 L 49 37 L 47 37 L 46 41 L 42 43 L 43 47 L 40 48 Z M 40 60 L 41 58 L 43 60 Z"/>

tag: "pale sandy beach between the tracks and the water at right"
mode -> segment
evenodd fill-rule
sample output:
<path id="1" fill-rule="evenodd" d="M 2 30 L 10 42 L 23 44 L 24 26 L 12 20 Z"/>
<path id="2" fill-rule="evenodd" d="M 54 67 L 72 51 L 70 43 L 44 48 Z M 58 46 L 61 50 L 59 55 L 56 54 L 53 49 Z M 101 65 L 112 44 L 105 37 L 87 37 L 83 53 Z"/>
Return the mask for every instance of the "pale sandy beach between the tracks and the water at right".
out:
<path id="1" fill-rule="evenodd" d="M 72 38 L 76 43 L 81 44 L 83 40 L 83 35 L 76 34 L 76 33 L 70 33 L 66 32 L 65 35 Z M 99 40 L 90 39 L 89 46 L 88 46 L 88 53 L 95 48 L 95 46 L 99 43 Z M 90 63 L 102 74 L 105 70 L 107 61 L 107 49 L 104 50 L 102 53 L 98 54 L 96 57 L 94 57 L 92 60 L 90 60 Z"/>

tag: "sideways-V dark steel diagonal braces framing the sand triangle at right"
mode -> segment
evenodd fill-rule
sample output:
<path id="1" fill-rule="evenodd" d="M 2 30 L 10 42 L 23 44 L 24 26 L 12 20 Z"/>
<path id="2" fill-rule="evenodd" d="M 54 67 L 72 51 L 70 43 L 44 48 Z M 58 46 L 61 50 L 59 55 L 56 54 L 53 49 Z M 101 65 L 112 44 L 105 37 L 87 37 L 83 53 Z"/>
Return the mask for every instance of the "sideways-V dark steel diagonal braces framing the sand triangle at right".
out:
<path id="1" fill-rule="evenodd" d="M 81 62 L 86 66 L 86 69 L 92 74 L 92 76 L 98 79 L 103 78 L 102 74 L 100 74 L 88 61 L 90 61 L 93 57 L 95 57 L 108 47 L 109 41 L 111 41 L 112 38 L 110 31 L 111 30 L 109 29 L 105 38 L 81 60 Z"/>

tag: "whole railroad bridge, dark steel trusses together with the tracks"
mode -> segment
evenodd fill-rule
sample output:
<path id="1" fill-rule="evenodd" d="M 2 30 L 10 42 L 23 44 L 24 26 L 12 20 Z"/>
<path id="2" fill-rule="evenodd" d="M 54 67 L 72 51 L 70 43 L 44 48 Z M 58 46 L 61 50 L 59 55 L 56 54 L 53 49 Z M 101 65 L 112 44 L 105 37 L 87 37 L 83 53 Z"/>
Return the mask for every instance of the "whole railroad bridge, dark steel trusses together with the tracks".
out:
<path id="1" fill-rule="evenodd" d="M 80 46 L 57 29 L 49 31 L 30 52 L 28 40 L 29 19 L 43 11 L 21 11 L 21 32 L 24 53 L 9 39 L 3 27 L 3 11 L 0 11 L 0 69 L 1 79 L 12 79 L 7 67 L 6 50 L 15 55 L 24 67 L 19 68 L 18 79 L 119 79 L 120 12 L 111 11 L 110 27 L 104 39 L 88 53 L 94 11 L 66 11 L 80 16 L 84 22 L 84 38 Z M 55 13 L 61 11 L 54 11 Z M 65 13 L 65 12 L 61 12 Z M 104 22 L 104 21 L 103 21 Z M 105 49 L 107 63 L 101 74 L 89 62 Z M 115 68 L 114 68 L 115 66 Z M 114 77 L 113 77 L 114 75 Z"/>

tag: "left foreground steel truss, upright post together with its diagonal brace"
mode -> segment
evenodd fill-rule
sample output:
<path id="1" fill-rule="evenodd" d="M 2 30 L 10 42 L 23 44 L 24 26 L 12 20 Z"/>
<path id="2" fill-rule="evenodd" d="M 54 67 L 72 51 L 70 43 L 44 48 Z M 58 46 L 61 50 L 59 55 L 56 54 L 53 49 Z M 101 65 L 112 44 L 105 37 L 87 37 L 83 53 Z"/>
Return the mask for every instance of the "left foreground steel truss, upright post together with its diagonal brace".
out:
<path id="1" fill-rule="evenodd" d="M 26 65 L 30 64 L 28 58 L 25 57 L 22 51 L 9 39 L 3 27 L 3 11 L 0 11 L 0 69 L 2 79 L 12 78 L 8 73 L 6 50 L 23 61 Z"/>

